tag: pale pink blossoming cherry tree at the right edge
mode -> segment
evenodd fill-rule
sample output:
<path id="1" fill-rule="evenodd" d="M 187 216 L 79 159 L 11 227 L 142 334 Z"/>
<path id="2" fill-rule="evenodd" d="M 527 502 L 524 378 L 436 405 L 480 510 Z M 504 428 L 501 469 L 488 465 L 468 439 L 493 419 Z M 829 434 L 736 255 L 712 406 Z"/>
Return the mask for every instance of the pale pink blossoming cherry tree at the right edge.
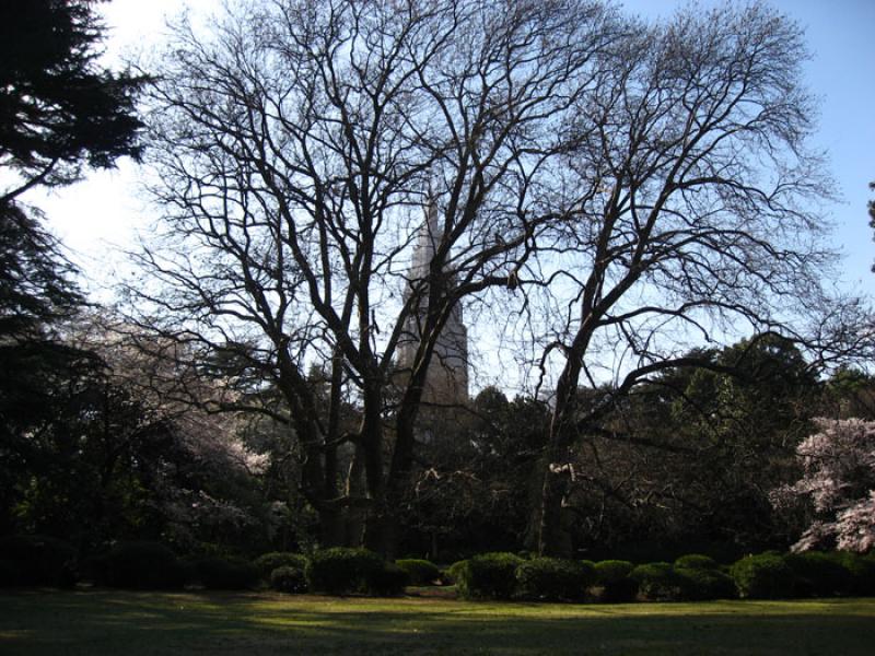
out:
<path id="1" fill-rule="evenodd" d="M 819 431 L 796 449 L 803 477 L 775 490 L 779 509 L 809 504 L 813 519 L 794 551 L 835 544 L 866 552 L 875 547 L 875 422 L 816 420 Z"/>

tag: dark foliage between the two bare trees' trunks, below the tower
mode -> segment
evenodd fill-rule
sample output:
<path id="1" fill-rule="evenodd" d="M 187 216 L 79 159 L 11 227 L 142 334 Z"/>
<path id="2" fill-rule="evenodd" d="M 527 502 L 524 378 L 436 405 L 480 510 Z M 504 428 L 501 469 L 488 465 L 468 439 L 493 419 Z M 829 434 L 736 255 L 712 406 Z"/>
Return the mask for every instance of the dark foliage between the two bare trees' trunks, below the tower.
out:
<path id="1" fill-rule="evenodd" d="M 548 412 L 541 401 L 487 387 L 460 421 L 445 418 L 446 437 L 423 448 L 429 466 L 417 472 L 401 548 L 439 562 L 523 548 Z"/>

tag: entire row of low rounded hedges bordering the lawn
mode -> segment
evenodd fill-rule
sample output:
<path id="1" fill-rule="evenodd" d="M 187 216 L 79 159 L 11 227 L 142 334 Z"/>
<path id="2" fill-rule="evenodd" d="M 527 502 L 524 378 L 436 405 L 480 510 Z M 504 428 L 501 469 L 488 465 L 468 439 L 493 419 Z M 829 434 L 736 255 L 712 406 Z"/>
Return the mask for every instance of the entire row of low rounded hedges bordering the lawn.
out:
<path id="1" fill-rule="evenodd" d="M 0 539 L 0 586 L 71 586 L 77 578 L 135 589 L 200 585 L 246 589 L 259 581 L 283 593 L 400 594 L 406 585 L 452 581 L 465 598 L 580 601 L 773 599 L 875 595 L 875 554 L 807 552 L 750 555 L 722 566 L 691 554 L 674 563 L 524 559 L 486 553 L 441 572 L 424 560 L 384 562 L 364 549 L 335 548 L 310 558 L 267 553 L 253 562 L 222 558 L 178 559 L 156 542 L 120 542 L 77 561 L 75 550 L 54 538 Z"/>

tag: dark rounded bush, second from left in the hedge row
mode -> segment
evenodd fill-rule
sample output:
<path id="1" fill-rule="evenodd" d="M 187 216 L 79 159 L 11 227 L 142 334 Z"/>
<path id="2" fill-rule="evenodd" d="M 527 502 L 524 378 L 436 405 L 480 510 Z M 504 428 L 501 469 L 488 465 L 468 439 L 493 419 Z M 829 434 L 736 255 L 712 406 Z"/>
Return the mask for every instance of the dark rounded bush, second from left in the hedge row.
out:
<path id="1" fill-rule="evenodd" d="M 118 542 L 108 553 L 93 559 L 92 565 L 95 581 L 113 587 L 177 588 L 186 579 L 183 563 L 160 542 Z"/>

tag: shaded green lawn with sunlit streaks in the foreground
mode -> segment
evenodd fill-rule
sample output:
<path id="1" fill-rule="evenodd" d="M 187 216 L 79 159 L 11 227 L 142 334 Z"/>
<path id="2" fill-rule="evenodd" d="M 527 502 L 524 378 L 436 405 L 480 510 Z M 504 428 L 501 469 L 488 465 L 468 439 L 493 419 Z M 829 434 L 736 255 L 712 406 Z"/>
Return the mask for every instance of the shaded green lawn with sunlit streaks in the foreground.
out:
<path id="1" fill-rule="evenodd" d="M 875 599 L 617 606 L 273 594 L 0 594 L 0 654 L 875 653 Z"/>

